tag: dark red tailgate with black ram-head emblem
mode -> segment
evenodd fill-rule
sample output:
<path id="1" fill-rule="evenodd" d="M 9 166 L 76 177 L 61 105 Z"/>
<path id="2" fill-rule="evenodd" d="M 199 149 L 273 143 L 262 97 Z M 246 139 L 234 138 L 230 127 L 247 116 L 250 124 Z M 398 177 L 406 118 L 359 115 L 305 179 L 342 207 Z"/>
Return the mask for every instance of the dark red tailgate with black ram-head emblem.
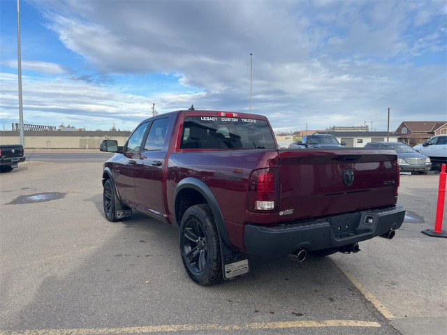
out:
<path id="1" fill-rule="evenodd" d="M 393 150 L 279 151 L 279 215 L 297 221 L 397 202 Z"/>

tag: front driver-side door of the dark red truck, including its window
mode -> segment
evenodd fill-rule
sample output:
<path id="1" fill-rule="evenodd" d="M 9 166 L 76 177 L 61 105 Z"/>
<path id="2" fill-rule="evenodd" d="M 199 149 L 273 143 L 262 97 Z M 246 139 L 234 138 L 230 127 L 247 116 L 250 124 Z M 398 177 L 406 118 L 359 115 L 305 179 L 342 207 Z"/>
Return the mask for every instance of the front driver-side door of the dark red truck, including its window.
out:
<path id="1" fill-rule="evenodd" d="M 119 198 L 127 202 L 137 202 L 134 182 L 135 165 L 140 155 L 142 140 L 145 138 L 148 124 L 148 122 L 145 122 L 135 129 L 129 140 L 127 140 L 124 152 L 119 160 L 115 162 L 115 167 L 112 171 Z"/>

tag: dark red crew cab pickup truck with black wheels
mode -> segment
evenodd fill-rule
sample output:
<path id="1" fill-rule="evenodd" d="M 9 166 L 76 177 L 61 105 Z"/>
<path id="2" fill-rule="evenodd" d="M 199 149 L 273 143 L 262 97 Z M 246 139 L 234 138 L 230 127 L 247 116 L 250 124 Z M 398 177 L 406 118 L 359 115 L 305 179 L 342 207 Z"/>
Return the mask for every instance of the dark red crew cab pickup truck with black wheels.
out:
<path id="1" fill-rule="evenodd" d="M 261 115 L 161 114 L 101 151 L 118 153 L 104 164 L 106 218 L 137 209 L 178 226 L 184 267 L 201 285 L 246 274 L 249 253 L 357 252 L 404 219 L 395 151 L 280 150 Z"/>

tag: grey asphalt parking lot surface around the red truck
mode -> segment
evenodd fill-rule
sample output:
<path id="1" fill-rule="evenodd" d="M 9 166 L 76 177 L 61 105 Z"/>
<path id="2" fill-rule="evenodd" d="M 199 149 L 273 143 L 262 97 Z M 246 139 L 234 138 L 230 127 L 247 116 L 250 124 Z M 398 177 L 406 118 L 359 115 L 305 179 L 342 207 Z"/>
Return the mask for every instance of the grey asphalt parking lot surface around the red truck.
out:
<path id="1" fill-rule="evenodd" d="M 0 335 L 445 334 L 447 239 L 420 233 L 439 174 L 401 176 L 408 216 L 391 241 L 302 263 L 251 257 L 248 276 L 200 287 L 176 228 L 105 220 L 101 171 L 31 161 L 0 174 Z"/>

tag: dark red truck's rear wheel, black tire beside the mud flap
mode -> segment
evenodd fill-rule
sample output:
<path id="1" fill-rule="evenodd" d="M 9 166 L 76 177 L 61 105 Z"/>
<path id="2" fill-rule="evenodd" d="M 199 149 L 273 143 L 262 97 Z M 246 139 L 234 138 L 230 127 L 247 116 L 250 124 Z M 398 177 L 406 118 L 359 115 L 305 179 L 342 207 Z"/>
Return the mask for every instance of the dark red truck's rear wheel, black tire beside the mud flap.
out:
<path id="1" fill-rule="evenodd" d="M 186 210 L 180 223 L 179 242 L 184 268 L 193 281 L 213 285 L 222 280 L 219 234 L 207 204 Z"/>

